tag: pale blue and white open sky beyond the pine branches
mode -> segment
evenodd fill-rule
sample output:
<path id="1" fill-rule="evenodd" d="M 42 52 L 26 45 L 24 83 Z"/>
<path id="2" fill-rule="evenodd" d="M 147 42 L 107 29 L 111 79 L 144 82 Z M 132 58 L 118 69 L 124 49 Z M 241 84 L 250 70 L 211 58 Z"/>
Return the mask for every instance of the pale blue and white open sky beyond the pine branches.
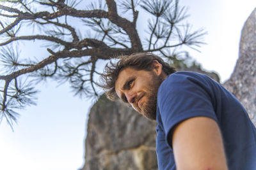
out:
<path id="1" fill-rule="evenodd" d="M 180 0 L 188 8 L 188 23 L 207 31 L 207 45 L 200 52 L 189 50 L 207 71 L 228 80 L 239 53 L 241 29 L 256 7 L 256 1 Z M 147 20 L 139 15 L 137 29 L 143 36 Z M 31 51 L 29 49 L 24 49 Z M 33 51 L 33 55 L 38 54 Z M 12 129 L 0 124 L 0 169 L 72 170 L 83 167 L 88 113 L 93 101 L 74 97 L 68 84 L 47 81 L 38 86 L 36 106 L 19 111 Z"/>

